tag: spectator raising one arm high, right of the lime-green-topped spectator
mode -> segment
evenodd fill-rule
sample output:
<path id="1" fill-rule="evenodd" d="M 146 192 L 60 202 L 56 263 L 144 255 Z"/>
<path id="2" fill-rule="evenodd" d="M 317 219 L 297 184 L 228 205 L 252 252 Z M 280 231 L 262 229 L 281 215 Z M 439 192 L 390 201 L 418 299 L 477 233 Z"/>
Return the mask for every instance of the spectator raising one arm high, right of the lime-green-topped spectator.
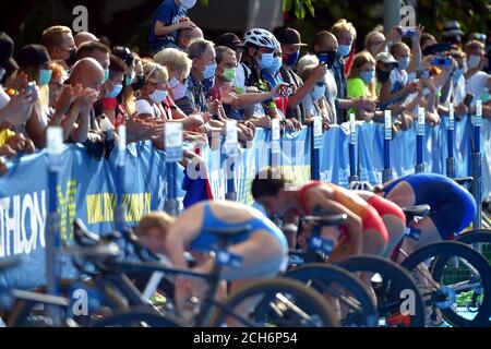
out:
<path id="1" fill-rule="evenodd" d="M 411 37 L 412 51 L 402 41 L 391 47 L 391 55 L 397 60 L 399 67 L 392 71 L 388 81 L 382 85 L 380 92 L 381 109 L 386 109 L 392 104 L 400 103 L 408 95 L 418 92 L 418 86 L 409 82 L 408 72 L 415 72 L 416 68 L 421 64 L 420 40 L 422 32 L 423 27 L 418 26 L 416 34 Z"/>

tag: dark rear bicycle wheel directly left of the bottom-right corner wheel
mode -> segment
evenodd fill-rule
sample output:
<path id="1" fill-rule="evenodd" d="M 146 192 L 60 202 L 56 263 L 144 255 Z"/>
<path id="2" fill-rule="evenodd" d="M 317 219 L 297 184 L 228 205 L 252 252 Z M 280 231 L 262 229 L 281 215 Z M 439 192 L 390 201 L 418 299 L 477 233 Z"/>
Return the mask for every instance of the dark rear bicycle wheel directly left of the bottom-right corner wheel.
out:
<path id="1" fill-rule="evenodd" d="M 424 304 L 418 286 L 399 265 L 379 256 L 349 257 L 334 264 L 351 273 L 378 275 L 372 286 L 382 326 L 424 327 Z"/>

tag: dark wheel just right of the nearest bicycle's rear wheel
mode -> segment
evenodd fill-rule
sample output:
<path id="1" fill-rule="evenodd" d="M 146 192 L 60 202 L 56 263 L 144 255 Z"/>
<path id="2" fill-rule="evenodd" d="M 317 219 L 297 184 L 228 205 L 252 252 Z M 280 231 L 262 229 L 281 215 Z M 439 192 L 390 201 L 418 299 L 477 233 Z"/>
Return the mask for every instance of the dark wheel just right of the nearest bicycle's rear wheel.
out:
<path id="1" fill-rule="evenodd" d="M 363 284 L 342 267 L 312 263 L 288 272 L 284 277 L 304 282 L 324 296 L 334 297 L 345 309 L 342 326 L 378 327 L 379 314 Z"/>

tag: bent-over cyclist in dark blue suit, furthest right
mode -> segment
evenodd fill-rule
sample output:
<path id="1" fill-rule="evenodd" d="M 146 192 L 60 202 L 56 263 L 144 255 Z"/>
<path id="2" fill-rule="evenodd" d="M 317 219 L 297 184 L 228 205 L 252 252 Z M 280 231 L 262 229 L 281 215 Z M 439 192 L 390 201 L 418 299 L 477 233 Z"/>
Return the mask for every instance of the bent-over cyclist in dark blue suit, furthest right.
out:
<path id="1" fill-rule="evenodd" d="M 417 173 L 406 176 L 375 192 L 396 203 L 399 207 L 429 205 L 428 217 L 411 226 L 406 252 L 410 253 L 429 243 L 453 240 L 475 218 L 477 207 L 474 197 L 452 179 L 441 174 Z"/>

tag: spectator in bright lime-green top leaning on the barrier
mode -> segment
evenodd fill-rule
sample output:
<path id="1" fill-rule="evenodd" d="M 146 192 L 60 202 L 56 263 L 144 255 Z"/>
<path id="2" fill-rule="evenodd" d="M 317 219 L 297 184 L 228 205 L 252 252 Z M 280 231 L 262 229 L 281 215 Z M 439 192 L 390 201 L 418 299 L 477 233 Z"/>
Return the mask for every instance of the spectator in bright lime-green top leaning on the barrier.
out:
<path id="1" fill-rule="evenodd" d="M 363 98 L 376 101 L 375 92 L 375 59 L 368 51 L 355 56 L 351 71 L 348 75 L 348 97 Z M 367 113 L 350 109 L 357 119 L 366 119 Z"/>

